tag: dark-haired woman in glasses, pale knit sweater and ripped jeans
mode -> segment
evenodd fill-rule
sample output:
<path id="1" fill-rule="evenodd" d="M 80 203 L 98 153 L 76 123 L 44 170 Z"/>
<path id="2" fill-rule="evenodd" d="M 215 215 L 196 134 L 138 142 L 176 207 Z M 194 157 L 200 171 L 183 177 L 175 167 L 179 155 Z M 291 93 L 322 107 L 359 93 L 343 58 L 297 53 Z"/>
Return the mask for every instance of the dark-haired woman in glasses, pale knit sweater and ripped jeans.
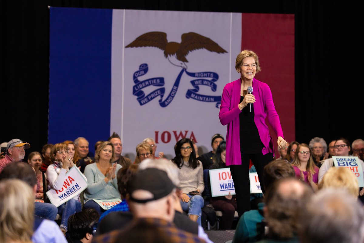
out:
<path id="1" fill-rule="evenodd" d="M 196 159 L 193 143 L 188 138 L 179 140 L 174 149 L 176 157 L 172 159 L 179 169 L 179 185 L 182 191 L 181 206 L 188 212 L 191 220 L 201 226 L 201 208 L 204 201 L 201 196 L 205 184 L 203 184 L 203 168 L 201 161 Z"/>

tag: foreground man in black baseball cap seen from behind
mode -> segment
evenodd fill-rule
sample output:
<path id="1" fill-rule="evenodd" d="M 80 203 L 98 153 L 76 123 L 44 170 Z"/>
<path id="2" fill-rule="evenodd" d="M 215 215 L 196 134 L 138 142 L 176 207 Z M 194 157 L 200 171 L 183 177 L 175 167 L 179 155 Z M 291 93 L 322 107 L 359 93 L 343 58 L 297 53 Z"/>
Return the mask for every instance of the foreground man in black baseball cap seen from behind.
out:
<path id="1" fill-rule="evenodd" d="M 100 235 L 95 243 L 119 242 L 126 237 L 143 242 L 143 234 L 137 233 L 141 226 L 154 227 L 155 237 L 166 237 L 169 242 L 205 242 L 197 235 L 179 230 L 172 223 L 174 201 L 177 197 L 175 190 L 176 186 L 165 171 L 156 168 L 138 171 L 130 183 L 128 200 L 136 220 L 125 230 Z"/>

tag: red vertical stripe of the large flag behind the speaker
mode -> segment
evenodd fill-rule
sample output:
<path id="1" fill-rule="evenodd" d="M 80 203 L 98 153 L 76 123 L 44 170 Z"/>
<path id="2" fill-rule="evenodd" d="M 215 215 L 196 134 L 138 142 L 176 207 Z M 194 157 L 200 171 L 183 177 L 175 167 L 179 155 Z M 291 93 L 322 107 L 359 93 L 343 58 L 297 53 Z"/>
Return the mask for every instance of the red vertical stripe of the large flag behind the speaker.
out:
<path id="1" fill-rule="evenodd" d="M 248 49 L 257 53 L 262 71 L 255 78 L 269 85 L 285 140 L 293 141 L 295 140 L 294 15 L 242 13 L 241 19 L 241 50 Z M 276 134 L 270 126 L 269 128 L 276 145 Z"/>

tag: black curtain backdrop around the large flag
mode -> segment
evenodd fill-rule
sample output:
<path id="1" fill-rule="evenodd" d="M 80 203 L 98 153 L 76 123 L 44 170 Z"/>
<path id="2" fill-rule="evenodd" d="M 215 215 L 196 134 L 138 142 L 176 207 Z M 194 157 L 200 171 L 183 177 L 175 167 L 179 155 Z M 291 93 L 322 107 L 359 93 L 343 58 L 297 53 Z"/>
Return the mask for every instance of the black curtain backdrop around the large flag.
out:
<path id="1" fill-rule="evenodd" d="M 0 142 L 40 151 L 48 137 L 49 9 L 120 8 L 295 15 L 296 140 L 364 138 L 359 6 L 321 1 L 0 1 Z M 254 28 L 254 23 L 247 23 Z M 285 63 L 276 63 L 276 71 Z M 70 87 L 72 89 L 72 87 Z M 80 91 L 82 92 L 82 91 Z M 282 94 L 284 95 L 284 94 Z M 274 97 L 278 99 L 279 97 Z M 84 103 L 80 103 L 82 109 Z M 64 102 L 67 109 L 67 101 Z M 286 112 L 291 112 L 287 110 Z M 72 114 L 69 114 L 72 119 Z M 283 128 L 284 131 L 284 128 Z M 108 135 L 108 134 L 107 134 Z M 87 137 L 87 134 L 85 134 Z M 210 136 L 207 134 L 206 136 Z M 100 138 L 100 139 L 106 139 Z M 93 145 L 90 145 L 93 146 Z"/>

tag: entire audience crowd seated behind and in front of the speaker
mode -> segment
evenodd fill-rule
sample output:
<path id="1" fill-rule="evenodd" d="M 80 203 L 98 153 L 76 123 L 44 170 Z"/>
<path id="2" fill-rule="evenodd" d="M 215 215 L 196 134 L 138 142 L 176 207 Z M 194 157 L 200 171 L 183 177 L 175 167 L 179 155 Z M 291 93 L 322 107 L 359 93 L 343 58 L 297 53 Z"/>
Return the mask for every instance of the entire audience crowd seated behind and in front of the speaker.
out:
<path id="1" fill-rule="evenodd" d="M 264 168 L 262 203 L 238 218 L 234 216 L 236 197 L 231 193 L 203 197 L 205 187 L 211 189 L 210 176 L 204 183 L 204 169 L 228 168 L 221 134 L 213 136 L 213 150 L 202 157 L 197 157 L 193 140 L 179 140 L 171 160 L 163 152 L 156 154 L 155 141 L 146 138 L 136 146 L 134 162 L 122 156 L 122 141 L 116 133 L 97 142 L 95 154 L 89 151 L 87 139 L 79 137 L 44 145 L 40 152 L 29 153 L 28 163 L 24 157 L 29 143 L 12 139 L 5 145 L 6 153 L 0 157 L 0 208 L 4 209 L 0 213 L 0 242 L 144 242 L 145 237 L 150 242 L 183 242 L 182 236 L 190 242 L 211 242 L 203 230 L 206 223 L 201 222 L 206 204 L 222 212 L 219 229 L 236 228 L 232 242 L 314 242 L 319 232 L 308 222 L 318 218 L 315 213 L 327 218 L 328 222 L 321 222 L 327 228 L 320 225 L 326 237 L 335 239 L 332 235 L 336 234 L 345 242 L 364 242 L 364 189 L 359 188 L 350 169 L 335 167 L 332 158 L 357 156 L 364 170 L 361 139 L 350 144 L 338 138 L 327 145 L 323 138 L 314 137 L 308 144 L 292 141 L 280 148 L 280 157 Z M 88 187 L 55 207 L 46 192 L 62 189 L 74 166 Z M 340 193 L 334 195 L 332 188 Z M 327 197 L 351 208 L 333 207 Z M 94 199 L 121 202 L 105 210 Z M 11 200 L 19 205 L 7 205 Z M 323 208 L 325 203 L 327 208 Z M 339 223 L 329 222 L 335 210 L 343 224 L 348 223 L 348 216 L 340 217 L 341 213 L 355 214 L 357 220 L 350 223 L 351 229 L 356 229 L 350 231 L 352 238 L 335 228 Z M 23 223 L 16 223 L 19 220 Z M 142 228 L 145 234 L 137 234 Z"/>

